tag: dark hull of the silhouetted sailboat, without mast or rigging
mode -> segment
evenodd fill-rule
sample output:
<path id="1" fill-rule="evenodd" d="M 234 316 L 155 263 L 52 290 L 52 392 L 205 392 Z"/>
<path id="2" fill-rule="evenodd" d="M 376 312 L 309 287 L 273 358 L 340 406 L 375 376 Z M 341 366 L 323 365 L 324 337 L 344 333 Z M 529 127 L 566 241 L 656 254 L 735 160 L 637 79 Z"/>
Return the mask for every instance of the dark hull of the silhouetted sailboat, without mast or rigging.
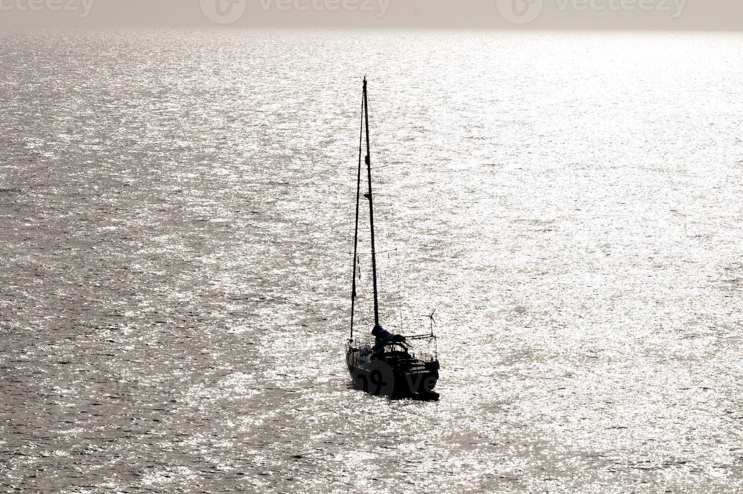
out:
<path id="1" fill-rule="evenodd" d="M 438 362 L 418 359 L 364 359 L 358 352 L 346 355 L 348 373 L 354 385 L 375 396 L 438 400 L 433 391 L 438 381 Z"/>

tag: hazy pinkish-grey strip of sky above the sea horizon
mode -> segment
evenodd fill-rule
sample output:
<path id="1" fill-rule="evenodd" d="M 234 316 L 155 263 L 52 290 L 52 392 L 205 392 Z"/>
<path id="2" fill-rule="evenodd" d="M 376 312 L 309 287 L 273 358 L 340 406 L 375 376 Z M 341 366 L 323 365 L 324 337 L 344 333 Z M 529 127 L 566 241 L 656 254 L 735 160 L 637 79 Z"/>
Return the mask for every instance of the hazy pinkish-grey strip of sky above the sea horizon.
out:
<path id="1" fill-rule="evenodd" d="M 742 31 L 741 0 L 0 0 L 0 25 Z"/>

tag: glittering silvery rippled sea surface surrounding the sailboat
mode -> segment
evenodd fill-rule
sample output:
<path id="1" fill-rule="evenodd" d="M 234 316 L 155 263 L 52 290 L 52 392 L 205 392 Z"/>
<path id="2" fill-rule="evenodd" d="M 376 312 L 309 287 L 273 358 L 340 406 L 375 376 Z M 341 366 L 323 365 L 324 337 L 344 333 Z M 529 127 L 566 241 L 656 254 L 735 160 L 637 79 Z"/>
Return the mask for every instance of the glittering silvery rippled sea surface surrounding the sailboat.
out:
<path id="1" fill-rule="evenodd" d="M 365 73 L 439 402 L 344 367 Z M 742 80 L 739 34 L 0 33 L 0 490 L 743 490 Z"/>

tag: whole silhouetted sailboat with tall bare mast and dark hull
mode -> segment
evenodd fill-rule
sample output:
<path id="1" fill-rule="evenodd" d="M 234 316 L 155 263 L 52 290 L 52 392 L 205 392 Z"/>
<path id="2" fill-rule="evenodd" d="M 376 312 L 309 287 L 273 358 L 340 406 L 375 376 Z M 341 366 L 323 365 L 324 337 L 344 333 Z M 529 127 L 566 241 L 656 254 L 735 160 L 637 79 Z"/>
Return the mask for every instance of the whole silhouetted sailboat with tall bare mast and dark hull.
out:
<path id="1" fill-rule="evenodd" d="M 417 336 L 402 336 L 389 333 L 380 321 L 379 290 L 377 286 L 377 250 L 374 244 L 374 196 L 371 182 L 371 145 L 369 138 L 369 97 L 363 80 L 361 106 L 361 131 L 359 138 L 359 167 L 356 189 L 356 228 L 354 231 L 354 271 L 351 284 L 351 338 L 346 345 L 345 362 L 357 388 L 369 394 L 387 397 L 411 397 L 420 400 L 438 400 L 433 391 L 438 381 L 438 348 L 434 353 L 421 353 L 412 349 L 421 341 L 436 343 L 433 331 L 434 318 L 430 318 L 430 333 Z M 371 228 L 371 273 L 374 289 L 374 328 L 371 338 L 354 338 L 354 315 L 357 301 L 357 269 L 359 267 L 359 213 L 362 184 L 362 150 L 366 129 L 366 180 L 368 190 L 363 194 L 369 201 L 369 226 Z M 435 311 L 434 311 L 435 312 Z"/>

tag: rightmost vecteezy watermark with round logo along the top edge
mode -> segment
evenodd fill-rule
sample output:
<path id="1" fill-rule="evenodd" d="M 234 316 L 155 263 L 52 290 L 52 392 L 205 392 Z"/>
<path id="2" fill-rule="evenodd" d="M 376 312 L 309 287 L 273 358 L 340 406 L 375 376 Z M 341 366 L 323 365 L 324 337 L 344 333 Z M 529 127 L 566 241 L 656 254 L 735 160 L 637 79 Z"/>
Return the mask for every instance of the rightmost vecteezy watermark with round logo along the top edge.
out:
<path id="1" fill-rule="evenodd" d="M 542 13 L 545 0 L 496 0 L 496 7 L 503 17 L 512 24 L 528 24 Z M 687 0 L 549 0 L 555 1 L 560 12 L 574 10 L 585 12 L 668 12 L 672 19 L 678 19 L 684 13 Z"/>

